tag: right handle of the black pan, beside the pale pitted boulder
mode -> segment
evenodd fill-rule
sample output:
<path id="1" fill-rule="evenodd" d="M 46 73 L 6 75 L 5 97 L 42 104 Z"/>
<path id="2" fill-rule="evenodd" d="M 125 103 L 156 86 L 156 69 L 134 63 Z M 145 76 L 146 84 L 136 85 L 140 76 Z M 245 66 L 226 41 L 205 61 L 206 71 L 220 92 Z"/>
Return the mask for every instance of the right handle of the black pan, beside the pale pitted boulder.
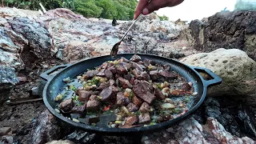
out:
<path id="1" fill-rule="evenodd" d="M 210 77 L 212 79 L 210 80 L 205 80 L 205 79 L 202 79 L 203 83 L 206 85 L 206 86 L 213 86 L 213 85 L 216 85 L 216 84 L 219 84 L 222 82 L 222 78 L 219 78 L 217 74 L 214 74 L 214 72 L 212 72 L 211 70 L 209 69 L 206 69 L 206 68 L 202 68 L 202 67 L 197 67 L 197 66 L 190 66 L 192 69 L 196 70 L 197 72 L 205 72 L 206 74 L 209 74 Z"/>

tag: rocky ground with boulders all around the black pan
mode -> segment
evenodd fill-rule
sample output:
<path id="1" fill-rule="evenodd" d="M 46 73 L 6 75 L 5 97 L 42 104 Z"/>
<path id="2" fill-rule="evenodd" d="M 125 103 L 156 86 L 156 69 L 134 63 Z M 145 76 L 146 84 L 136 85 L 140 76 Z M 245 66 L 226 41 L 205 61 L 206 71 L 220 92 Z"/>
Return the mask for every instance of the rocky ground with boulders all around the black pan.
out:
<path id="1" fill-rule="evenodd" d="M 254 15 L 252 12 L 244 14 L 248 18 Z M 252 45 L 249 43 L 256 29 L 254 25 L 244 24 L 246 22 L 237 22 L 241 14 L 227 14 L 232 16 L 229 24 L 234 21 L 238 26 L 225 26 L 250 30 L 250 38 L 238 37 L 247 40 L 238 44 L 232 41 L 232 46 L 226 46 L 227 42 L 217 45 L 218 39 L 207 34 L 213 34 L 218 29 L 214 28 L 214 19 L 227 18 L 226 14 L 223 17 L 220 15 L 209 18 L 209 22 L 194 21 L 186 26 L 160 21 L 150 14 L 135 24 L 122 42 L 120 53 L 136 52 L 175 58 L 188 65 L 206 67 L 222 77 L 223 82 L 208 90 L 208 96 L 214 98 L 206 98 L 193 117 L 168 130 L 142 135 L 142 138 L 124 138 L 89 134 L 60 126 L 62 123 L 46 110 L 42 100 L 10 104 L 40 98 L 38 84 L 43 71 L 59 64 L 110 54 L 111 47 L 122 38 L 131 22 L 118 22 L 118 26 L 112 26 L 110 20 L 83 18 L 65 9 L 39 15 L 27 10 L 1 8 L 0 141 L 46 143 L 62 139 L 74 143 L 254 143 L 256 62 L 252 59 L 252 52 L 256 49 L 248 46 Z M 203 26 L 196 25 L 198 22 Z M 228 39 L 230 35 L 226 30 L 231 28 L 225 29 L 225 26 L 225 33 L 219 32 L 218 35 L 226 34 Z M 250 29 L 244 28 L 246 26 Z M 234 39 L 239 30 L 232 33 Z M 221 47 L 236 49 L 218 49 Z M 8 99 L 10 102 L 6 102 Z M 65 142 L 72 143 L 70 141 Z"/>

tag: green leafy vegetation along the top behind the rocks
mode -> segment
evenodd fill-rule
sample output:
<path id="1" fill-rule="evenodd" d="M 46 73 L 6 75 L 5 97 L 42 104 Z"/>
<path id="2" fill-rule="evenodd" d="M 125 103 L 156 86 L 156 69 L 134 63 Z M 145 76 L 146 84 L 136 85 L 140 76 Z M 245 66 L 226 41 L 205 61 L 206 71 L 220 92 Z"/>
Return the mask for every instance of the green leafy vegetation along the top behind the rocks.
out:
<path id="1" fill-rule="evenodd" d="M 5 6 L 26 10 L 67 8 L 86 18 L 130 20 L 134 18 L 137 0 L 4 0 Z"/>

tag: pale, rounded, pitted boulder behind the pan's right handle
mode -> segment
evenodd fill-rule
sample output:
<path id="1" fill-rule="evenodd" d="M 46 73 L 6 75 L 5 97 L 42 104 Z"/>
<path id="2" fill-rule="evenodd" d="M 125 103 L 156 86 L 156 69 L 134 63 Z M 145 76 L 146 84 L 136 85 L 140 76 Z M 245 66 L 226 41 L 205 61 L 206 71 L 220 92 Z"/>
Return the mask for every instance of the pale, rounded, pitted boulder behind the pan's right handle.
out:
<path id="1" fill-rule="evenodd" d="M 208 88 L 209 96 L 250 95 L 256 93 L 256 62 L 242 50 L 218 49 L 182 58 L 190 66 L 212 70 L 222 78 L 220 85 Z"/>

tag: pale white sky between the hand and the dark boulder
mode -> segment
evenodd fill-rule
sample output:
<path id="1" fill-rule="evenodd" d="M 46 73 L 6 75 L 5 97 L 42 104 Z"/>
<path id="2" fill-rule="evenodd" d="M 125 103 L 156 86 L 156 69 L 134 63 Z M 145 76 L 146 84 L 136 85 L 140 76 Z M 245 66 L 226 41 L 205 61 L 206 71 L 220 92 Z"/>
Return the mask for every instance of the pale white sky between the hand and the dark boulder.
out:
<path id="1" fill-rule="evenodd" d="M 170 21 L 181 18 L 182 21 L 210 17 L 217 12 L 224 10 L 233 11 L 236 0 L 184 0 L 180 5 L 166 7 L 155 11 L 158 15 L 165 14 Z"/>

